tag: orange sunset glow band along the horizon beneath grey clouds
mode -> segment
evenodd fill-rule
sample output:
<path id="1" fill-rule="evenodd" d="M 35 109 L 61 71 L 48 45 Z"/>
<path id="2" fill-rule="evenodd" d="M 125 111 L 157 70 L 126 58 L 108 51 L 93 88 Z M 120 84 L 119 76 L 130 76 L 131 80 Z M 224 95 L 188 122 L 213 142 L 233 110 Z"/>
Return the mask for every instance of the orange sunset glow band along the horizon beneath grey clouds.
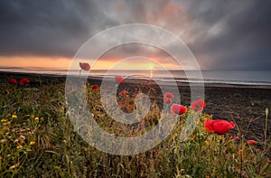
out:
<path id="1" fill-rule="evenodd" d="M 79 69 L 77 61 L 89 62 L 91 70 L 163 70 L 172 69 L 172 63 L 164 62 L 161 64 L 157 61 L 122 61 L 116 64 L 116 60 L 98 60 L 93 63 L 92 60 L 76 59 L 75 66 L 70 66 L 72 59 L 65 57 L 43 57 L 43 56 L 27 56 L 27 57 L 0 57 L 0 68 L 42 68 L 42 69 Z M 163 65 L 163 68 L 160 66 Z"/>

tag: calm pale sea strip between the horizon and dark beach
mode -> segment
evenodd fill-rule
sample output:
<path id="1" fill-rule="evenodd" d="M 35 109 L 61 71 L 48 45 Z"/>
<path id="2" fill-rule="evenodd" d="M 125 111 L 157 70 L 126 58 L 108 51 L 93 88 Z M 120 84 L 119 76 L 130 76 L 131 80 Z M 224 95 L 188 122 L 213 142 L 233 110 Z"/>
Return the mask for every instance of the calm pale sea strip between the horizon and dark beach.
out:
<path id="1" fill-rule="evenodd" d="M 0 68 L 0 71 L 41 73 L 51 75 L 79 75 L 79 70 Z M 169 73 L 170 72 L 170 73 Z M 85 72 L 84 72 L 85 73 Z M 83 74 L 83 72 L 82 72 Z M 199 75 L 200 74 L 200 75 Z M 201 76 L 202 78 L 199 76 Z M 271 85 L 271 70 L 90 70 L 89 76 L 114 77 L 116 75 L 133 78 L 153 78 L 155 80 L 177 80 L 182 82 L 228 83 L 243 85 Z M 202 79 L 202 80 L 201 80 Z"/>

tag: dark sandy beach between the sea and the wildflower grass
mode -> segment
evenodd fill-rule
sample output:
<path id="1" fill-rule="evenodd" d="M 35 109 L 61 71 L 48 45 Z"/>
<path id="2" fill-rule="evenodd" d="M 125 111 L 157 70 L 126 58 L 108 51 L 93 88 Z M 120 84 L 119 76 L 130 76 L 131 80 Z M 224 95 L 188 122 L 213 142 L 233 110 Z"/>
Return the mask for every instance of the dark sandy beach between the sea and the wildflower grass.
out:
<path id="1" fill-rule="evenodd" d="M 8 83 L 10 79 L 20 80 L 23 77 L 29 78 L 31 87 L 39 87 L 44 84 L 51 84 L 51 82 L 65 82 L 66 76 L 56 76 L 50 74 L 31 74 L 31 73 L 16 73 L 0 71 L 0 81 Z M 89 83 L 100 84 L 102 78 L 91 77 Z M 163 94 L 161 89 L 154 81 L 149 80 L 126 80 L 125 85 L 119 89 L 126 89 L 132 91 L 135 88 L 147 92 L 148 89 L 154 88 L 156 92 L 150 98 L 157 100 L 157 103 L 163 105 Z M 170 90 L 171 87 L 165 83 L 163 88 Z M 178 89 L 181 96 L 182 105 L 189 106 L 191 103 L 191 91 L 189 83 L 178 83 Z M 269 108 L 271 111 L 271 86 L 247 86 L 234 84 L 219 84 L 208 83 L 204 84 L 205 100 L 207 108 L 204 113 L 208 113 L 213 118 L 223 118 L 234 120 L 239 127 L 247 129 L 244 133 L 247 139 L 262 137 L 265 123 L 265 110 Z M 249 120 L 255 120 L 249 126 Z M 271 119 L 268 116 L 268 135 L 271 133 Z M 236 132 L 235 132 L 236 133 Z"/>

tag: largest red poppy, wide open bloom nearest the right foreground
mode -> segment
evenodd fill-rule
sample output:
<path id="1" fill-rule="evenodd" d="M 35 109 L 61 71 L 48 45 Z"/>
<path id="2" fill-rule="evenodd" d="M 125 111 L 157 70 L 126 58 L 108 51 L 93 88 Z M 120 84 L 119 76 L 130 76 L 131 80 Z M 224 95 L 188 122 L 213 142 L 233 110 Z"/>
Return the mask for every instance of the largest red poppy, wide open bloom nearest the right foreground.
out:
<path id="1" fill-rule="evenodd" d="M 218 119 L 218 120 L 207 119 L 204 124 L 204 127 L 206 128 L 206 130 L 208 130 L 210 132 L 214 132 L 215 134 L 218 134 L 218 135 L 225 134 L 230 129 L 232 129 L 234 126 L 235 125 L 232 121 L 228 122 L 223 119 Z"/>

